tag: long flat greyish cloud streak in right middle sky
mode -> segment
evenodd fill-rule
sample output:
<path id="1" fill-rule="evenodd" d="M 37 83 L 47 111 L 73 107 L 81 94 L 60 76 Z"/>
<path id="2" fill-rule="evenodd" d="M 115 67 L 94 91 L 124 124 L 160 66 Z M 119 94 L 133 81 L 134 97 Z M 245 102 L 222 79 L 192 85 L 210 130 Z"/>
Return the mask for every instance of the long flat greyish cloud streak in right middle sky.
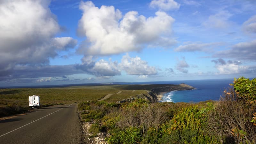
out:
<path id="1" fill-rule="evenodd" d="M 204 51 L 209 52 L 210 49 L 220 45 L 220 43 L 190 43 L 186 45 L 180 45 L 175 48 L 174 51 Z"/>

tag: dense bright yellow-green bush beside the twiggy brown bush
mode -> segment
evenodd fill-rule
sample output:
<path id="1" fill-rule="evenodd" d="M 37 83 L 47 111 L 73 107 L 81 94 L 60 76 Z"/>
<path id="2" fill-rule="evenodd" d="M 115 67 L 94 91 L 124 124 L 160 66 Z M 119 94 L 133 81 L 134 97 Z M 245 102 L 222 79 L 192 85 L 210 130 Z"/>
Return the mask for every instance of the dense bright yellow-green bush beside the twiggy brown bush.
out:
<path id="1" fill-rule="evenodd" d="M 206 140 L 213 141 L 205 132 L 207 113 L 212 109 L 212 103 L 207 108 L 199 109 L 198 106 L 190 106 L 180 110 L 174 117 L 161 126 L 162 138 L 159 143 L 203 143 Z"/>

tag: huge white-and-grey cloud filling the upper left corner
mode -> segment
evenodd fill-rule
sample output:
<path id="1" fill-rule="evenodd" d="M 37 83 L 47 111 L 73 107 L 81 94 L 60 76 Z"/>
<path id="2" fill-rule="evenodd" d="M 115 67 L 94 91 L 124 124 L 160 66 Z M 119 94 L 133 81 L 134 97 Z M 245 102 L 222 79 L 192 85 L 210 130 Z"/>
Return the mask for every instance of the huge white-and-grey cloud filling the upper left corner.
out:
<path id="1" fill-rule="evenodd" d="M 8 0 L 0 4 L 0 76 L 17 65 L 49 64 L 58 51 L 73 48 L 76 40 L 54 38 L 60 32 L 48 0 Z"/>

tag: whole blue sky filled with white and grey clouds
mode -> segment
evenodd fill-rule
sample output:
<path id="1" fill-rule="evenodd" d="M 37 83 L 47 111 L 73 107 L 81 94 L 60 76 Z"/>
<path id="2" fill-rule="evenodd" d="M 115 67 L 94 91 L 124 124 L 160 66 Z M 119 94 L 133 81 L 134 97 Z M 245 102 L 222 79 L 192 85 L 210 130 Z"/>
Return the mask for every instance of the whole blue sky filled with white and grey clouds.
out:
<path id="1" fill-rule="evenodd" d="M 0 0 L 0 86 L 252 78 L 254 0 Z"/>

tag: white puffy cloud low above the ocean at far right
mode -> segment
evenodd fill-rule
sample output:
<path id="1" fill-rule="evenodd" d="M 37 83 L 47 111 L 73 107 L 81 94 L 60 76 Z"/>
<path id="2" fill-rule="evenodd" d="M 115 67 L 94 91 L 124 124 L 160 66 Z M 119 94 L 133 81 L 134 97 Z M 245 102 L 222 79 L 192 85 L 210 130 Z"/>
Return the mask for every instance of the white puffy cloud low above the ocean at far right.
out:
<path id="1" fill-rule="evenodd" d="M 229 60 L 226 62 L 220 58 L 212 60 L 212 62 L 215 63 L 215 67 L 219 71 L 218 74 L 244 74 L 253 71 L 252 67 L 241 65 L 240 61 Z"/>

